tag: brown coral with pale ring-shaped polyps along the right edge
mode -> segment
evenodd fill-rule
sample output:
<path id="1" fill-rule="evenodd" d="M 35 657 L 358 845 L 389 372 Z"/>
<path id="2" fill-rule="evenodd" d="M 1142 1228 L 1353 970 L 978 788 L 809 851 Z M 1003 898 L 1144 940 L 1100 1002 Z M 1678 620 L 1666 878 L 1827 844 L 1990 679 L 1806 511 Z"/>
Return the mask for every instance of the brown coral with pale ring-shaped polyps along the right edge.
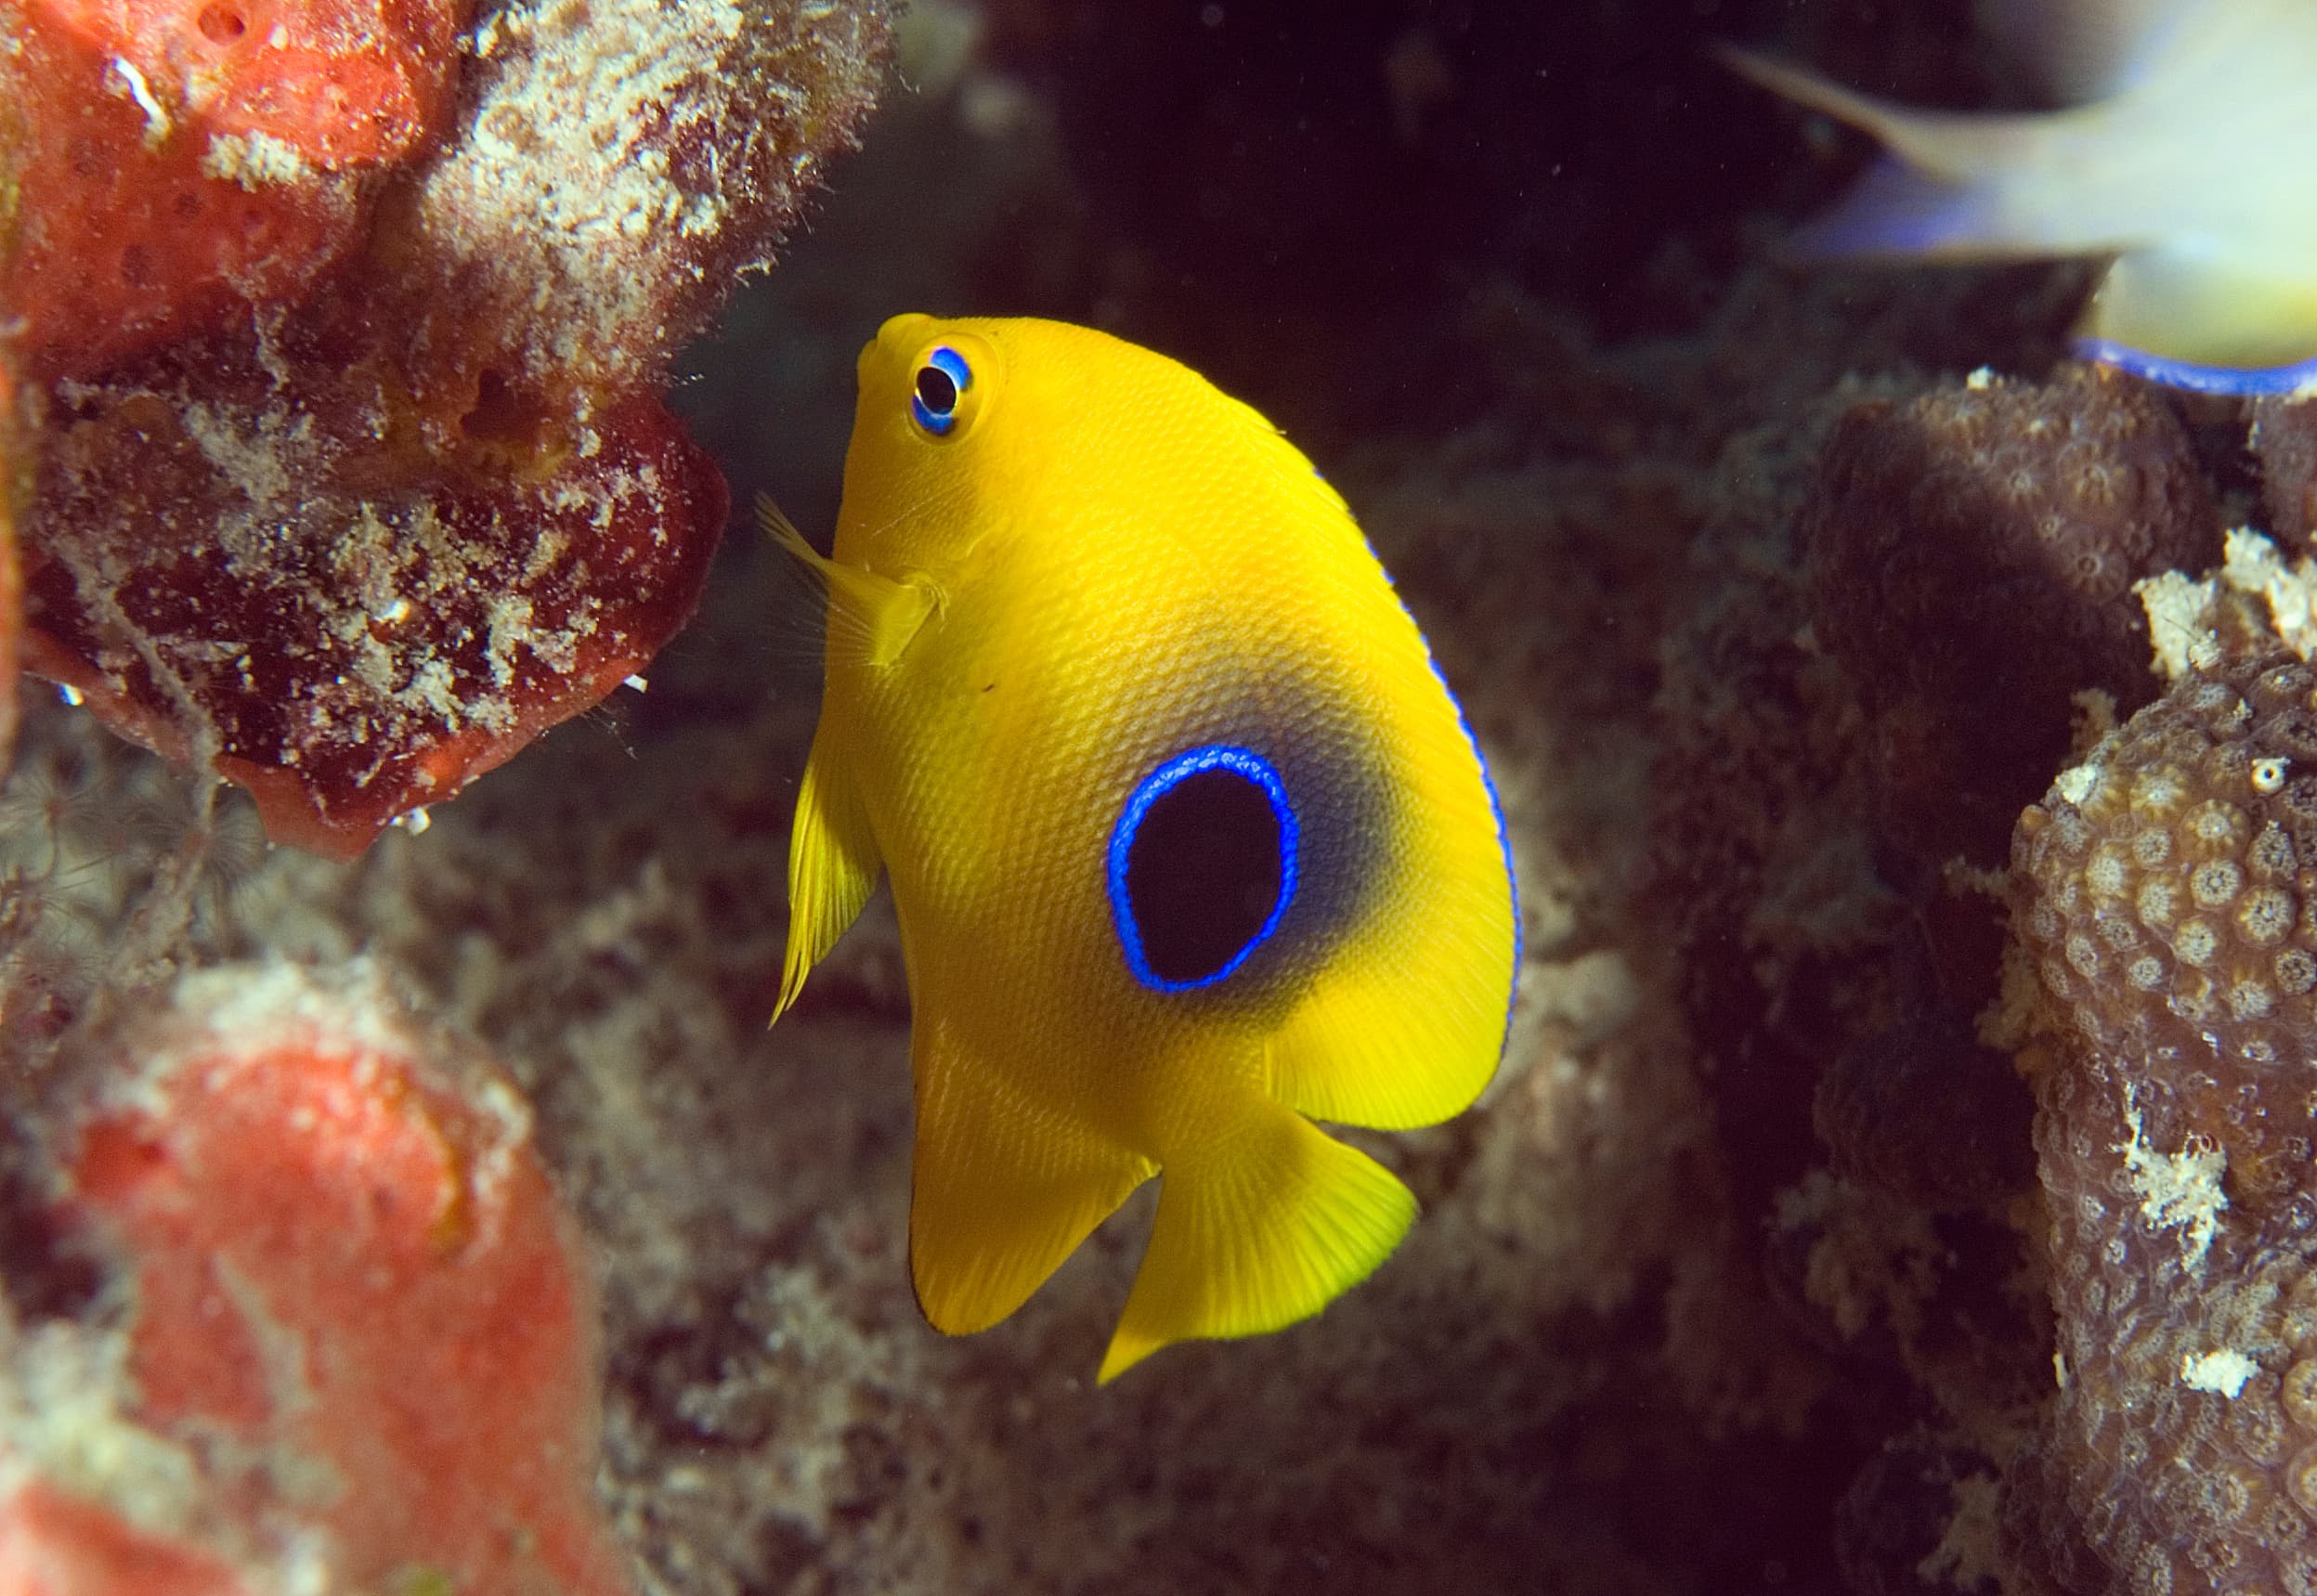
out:
<path id="1" fill-rule="evenodd" d="M 2187 674 L 2018 827 L 2064 1591 L 2317 1591 L 2317 672 Z"/>

